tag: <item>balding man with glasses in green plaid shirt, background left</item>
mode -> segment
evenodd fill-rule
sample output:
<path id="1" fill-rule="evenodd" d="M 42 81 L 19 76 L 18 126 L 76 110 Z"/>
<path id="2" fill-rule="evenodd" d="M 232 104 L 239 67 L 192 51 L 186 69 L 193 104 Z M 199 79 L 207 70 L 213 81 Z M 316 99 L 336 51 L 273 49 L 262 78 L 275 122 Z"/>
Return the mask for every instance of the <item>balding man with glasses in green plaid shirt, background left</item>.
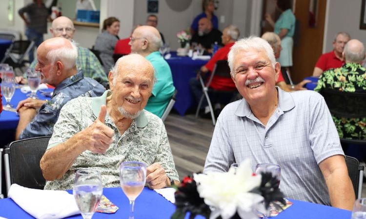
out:
<path id="1" fill-rule="evenodd" d="M 50 28 L 52 37 L 63 37 L 72 40 L 75 34 L 75 28 L 72 20 L 70 18 L 61 16 L 52 21 L 52 26 Z M 30 69 L 35 69 L 37 65 L 37 60 L 35 59 L 31 65 Z M 101 63 L 98 61 L 97 56 L 95 56 L 87 48 L 78 46 L 78 58 L 76 59 L 76 68 L 81 71 L 84 77 L 90 77 L 104 87 L 108 86 L 108 78 L 104 73 L 104 69 Z M 22 76 L 17 76 L 15 78 L 17 83 L 26 84 L 27 81 Z"/>

